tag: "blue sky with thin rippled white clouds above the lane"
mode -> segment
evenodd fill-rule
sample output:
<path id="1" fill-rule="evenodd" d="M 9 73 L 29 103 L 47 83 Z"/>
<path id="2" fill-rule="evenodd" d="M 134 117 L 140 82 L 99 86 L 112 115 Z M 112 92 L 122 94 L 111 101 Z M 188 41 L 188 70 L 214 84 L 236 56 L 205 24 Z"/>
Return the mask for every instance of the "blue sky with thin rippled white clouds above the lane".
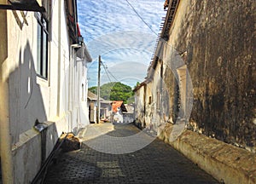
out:
<path id="1" fill-rule="evenodd" d="M 93 58 L 88 65 L 89 87 L 97 84 L 98 55 L 108 73 L 102 66 L 101 84 L 118 79 L 133 87 L 146 77 L 155 33 L 160 32 L 161 17 L 166 14 L 165 0 L 128 2 L 143 20 L 125 0 L 78 0 L 80 31 Z"/>

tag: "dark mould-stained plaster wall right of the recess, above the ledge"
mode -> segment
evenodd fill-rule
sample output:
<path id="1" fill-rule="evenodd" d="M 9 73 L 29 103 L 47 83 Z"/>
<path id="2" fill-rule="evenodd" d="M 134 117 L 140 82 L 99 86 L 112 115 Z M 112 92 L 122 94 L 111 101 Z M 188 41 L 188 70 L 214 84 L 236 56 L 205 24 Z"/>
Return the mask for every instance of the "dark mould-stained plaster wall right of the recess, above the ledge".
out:
<path id="1" fill-rule="evenodd" d="M 182 0 L 168 41 L 187 51 L 195 130 L 249 150 L 256 145 L 255 12 L 253 0 Z"/>

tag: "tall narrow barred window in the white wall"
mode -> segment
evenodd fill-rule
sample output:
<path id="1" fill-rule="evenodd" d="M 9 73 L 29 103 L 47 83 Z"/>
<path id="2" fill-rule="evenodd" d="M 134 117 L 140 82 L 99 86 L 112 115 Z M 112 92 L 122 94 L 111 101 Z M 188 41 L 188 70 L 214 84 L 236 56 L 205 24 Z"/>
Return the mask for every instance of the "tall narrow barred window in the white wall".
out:
<path id="1" fill-rule="evenodd" d="M 36 13 L 38 20 L 38 56 L 36 71 L 39 77 L 48 78 L 49 22 L 43 14 Z"/>

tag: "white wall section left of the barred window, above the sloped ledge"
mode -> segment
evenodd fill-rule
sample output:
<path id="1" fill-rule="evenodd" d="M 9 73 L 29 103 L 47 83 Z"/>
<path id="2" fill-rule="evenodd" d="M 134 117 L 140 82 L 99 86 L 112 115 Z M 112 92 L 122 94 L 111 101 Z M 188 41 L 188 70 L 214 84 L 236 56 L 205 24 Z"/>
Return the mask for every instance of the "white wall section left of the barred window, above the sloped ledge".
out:
<path id="1" fill-rule="evenodd" d="M 44 122 L 49 114 L 47 99 L 48 82 L 38 85 L 35 72 L 37 55 L 37 20 L 29 12 L 22 18 L 20 11 L 8 11 L 8 58 L 6 76 L 9 78 L 9 113 L 12 143 L 20 134 L 32 129 L 35 120 Z M 26 24 L 27 22 L 27 24 Z M 45 106 L 43 105 L 45 103 Z"/>

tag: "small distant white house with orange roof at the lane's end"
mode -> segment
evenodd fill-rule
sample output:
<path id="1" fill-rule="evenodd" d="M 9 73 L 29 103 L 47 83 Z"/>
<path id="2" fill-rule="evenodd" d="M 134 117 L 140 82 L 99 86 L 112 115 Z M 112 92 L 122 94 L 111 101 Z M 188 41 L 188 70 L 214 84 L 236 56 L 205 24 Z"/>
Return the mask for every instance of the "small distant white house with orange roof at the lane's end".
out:
<path id="1" fill-rule="evenodd" d="M 125 123 L 123 112 L 127 112 L 125 104 L 123 101 L 113 101 L 112 102 L 112 123 Z"/>

